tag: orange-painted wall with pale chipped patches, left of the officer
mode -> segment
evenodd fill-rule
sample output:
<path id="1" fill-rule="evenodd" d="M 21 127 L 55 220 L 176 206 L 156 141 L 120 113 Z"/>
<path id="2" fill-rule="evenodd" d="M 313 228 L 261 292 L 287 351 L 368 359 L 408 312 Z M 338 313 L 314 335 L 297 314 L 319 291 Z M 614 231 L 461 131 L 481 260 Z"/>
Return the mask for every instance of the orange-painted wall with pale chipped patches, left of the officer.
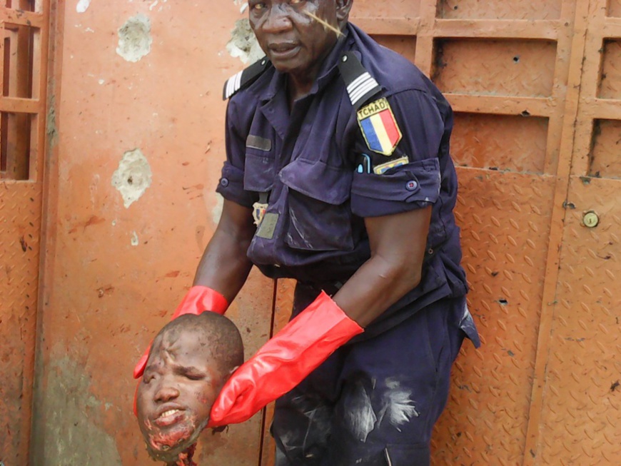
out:
<path id="1" fill-rule="evenodd" d="M 55 6 L 31 464 L 143 465 L 131 371 L 218 221 L 221 90 L 256 51 L 243 30 L 228 44 L 246 16 L 238 1 Z M 253 274 L 228 313 L 248 354 L 268 335 L 271 287 Z M 260 443 L 260 415 L 202 442 L 231 465 L 256 465 Z"/>

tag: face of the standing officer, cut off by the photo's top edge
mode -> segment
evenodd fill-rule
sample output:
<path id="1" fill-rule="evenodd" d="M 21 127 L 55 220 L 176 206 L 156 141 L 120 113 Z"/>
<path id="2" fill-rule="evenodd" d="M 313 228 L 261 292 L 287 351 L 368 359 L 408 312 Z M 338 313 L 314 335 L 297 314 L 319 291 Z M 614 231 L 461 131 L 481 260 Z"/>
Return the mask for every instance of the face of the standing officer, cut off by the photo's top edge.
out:
<path id="1" fill-rule="evenodd" d="M 336 0 L 249 0 L 248 6 L 258 43 L 276 69 L 313 79 L 336 34 L 308 13 L 338 29 L 343 7 Z"/>

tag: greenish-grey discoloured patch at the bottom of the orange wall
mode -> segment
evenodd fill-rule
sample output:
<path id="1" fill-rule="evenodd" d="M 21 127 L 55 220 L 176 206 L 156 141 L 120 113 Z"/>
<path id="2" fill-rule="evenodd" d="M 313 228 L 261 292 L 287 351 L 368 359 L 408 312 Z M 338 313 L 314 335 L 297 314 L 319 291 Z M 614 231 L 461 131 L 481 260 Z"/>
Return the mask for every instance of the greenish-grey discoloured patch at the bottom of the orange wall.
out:
<path id="1" fill-rule="evenodd" d="M 34 464 L 122 466 L 116 441 L 98 425 L 99 410 L 106 405 L 91 395 L 90 385 L 76 361 L 52 360 L 45 389 L 44 445 L 36 450 Z"/>

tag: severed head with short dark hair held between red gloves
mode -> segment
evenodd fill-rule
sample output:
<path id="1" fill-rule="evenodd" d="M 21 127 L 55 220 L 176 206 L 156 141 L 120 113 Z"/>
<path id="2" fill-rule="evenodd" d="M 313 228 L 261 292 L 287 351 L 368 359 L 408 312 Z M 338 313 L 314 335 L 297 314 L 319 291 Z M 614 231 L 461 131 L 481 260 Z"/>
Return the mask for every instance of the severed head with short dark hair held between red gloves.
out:
<path id="1" fill-rule="evenodd" d="M 241 349 L 237 359 L 243 360 L 236 328 L 233 337 L 237 339 L 227 348 L 223 345 L 226 338 L 216 334 L 213 325 L 203 325 L 207 317 L 226 320 L 234 328 L 216 314 L 202 318 L 188 315 L 164 328 L 153 340 L 138 385 L 136 410 L 147 450 L 158 460 L 170 460 L 171 455 L 196 442 L 218 392 L 235 368 L 231 351 L 239 353 Z"/>

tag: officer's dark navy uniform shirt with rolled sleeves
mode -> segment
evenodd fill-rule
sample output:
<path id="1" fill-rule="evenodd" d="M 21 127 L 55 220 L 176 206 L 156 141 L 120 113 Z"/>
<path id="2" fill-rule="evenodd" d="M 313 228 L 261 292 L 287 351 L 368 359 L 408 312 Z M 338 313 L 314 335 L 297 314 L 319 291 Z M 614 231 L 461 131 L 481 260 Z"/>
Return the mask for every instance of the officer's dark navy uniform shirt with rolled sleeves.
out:
<path id="1" fill-rule="evenodd" d="M 385 98 L 390 105 L 401 138 L 389 155 L 358 123 L 338 69 L 345 52 L 382 88 L 365 104 Z M 448 102 L 420 70 L 348 24 L 310 93 L 291 110 L 286 76 L 271 66 L 230 99 L 216 191 L 248 208 L 268 197 L 248 258 L 269 277 L 296 278 L 328 293 L 370 258 L 365 217 L 433 206 L 422 280 L 366 329 L 368 338 L 467 291 L 453 216 L 452 126 Z"/>

